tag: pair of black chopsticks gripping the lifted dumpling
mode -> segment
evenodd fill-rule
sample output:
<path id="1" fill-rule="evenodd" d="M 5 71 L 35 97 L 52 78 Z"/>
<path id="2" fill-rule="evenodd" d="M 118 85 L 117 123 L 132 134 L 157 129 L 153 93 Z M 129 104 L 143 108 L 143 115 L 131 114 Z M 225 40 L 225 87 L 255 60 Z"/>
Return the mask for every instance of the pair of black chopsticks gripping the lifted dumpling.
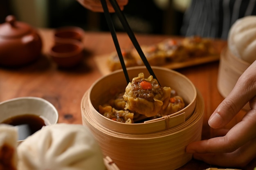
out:
<path id="1" fill-rule="evenodd" d="M 150 64 L 148 63 L 148 60 L 146 59 L 146 56 L 144 55 L 143 51 L 141 50 L 141 47 L 140 47 L 139 43 L 137 42 L 137 39 L 135 38 L 134 33 L 130 29 L 130 26 L 129 26 L 123 12 L 121 11 L 119 5 L 117 4 L 117 1 L 116 0 L 109 0 L 109 1 L 111 3 L 112 7 L 115 9 L 115 12 L 116 12 L 121 24 L 123 25 L 124 29 L 126 30 L 132 44 L 135 47 L 135 49 L 139 53 L 139 56 L 141 57 L 141 60 L 144 62 L 148 72 L 150 73 L 150 75 L 153 76 L 153 78 L 157 79 L 156 76 L 155 76 L 155 73 L 153 72 L 153 69 L 151 68 Z M 102 4 L 102 7 L 103 7 L 104 15 L 105 15 L 107 23 L 108 23 L 108 27 L 109 27 L 111 35 L 112 35 L 112 39 L 113 39 L 114 44 L 115 44 L 115 48 L 117 49 L 117 55 L 118 55 L 119 60 L 121 62 L 121 66 L 123 68 L 124 75 L 126 77 L 126 81 L 127 81 L 127 83 L 129 83 L 130 79 L 129 79 L 129 76 L 128 76 L 128 72 L 126 70 L 126 66 L 125 66 L 125 63 L 124 63 L 124 58 L 122 56 L 119 43 L 118 43 L 118 40 L 117 40 L 115 27 L 114 27 L 114 24 L 111 20 L 110 13 L 108 11 L 108 6 L 107 6 L 106 0 L 101 0 L 101 4 Z"/>

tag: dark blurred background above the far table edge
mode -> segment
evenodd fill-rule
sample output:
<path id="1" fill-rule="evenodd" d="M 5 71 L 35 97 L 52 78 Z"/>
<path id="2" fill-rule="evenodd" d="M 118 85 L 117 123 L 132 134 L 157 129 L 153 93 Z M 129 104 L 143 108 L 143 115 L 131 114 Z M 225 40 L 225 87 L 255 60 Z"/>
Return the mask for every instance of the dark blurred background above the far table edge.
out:
<path id="1" fill-rule="evenodd" d="M 76 0 L 68 7 L 59 7 L 61 0 L 47 1 L 47 27 L 79 26 L 85 31 L 108 31 L 103 13 L 85 9 Z M 10 0 L 0 0 L 0 23 L 7 15 L 19 16 L 11 8 Z M 183 13 L 169 5 L 160 9 L 153 0 L 129 0 L 124 9 L 132 31 L 138 33 L 180 35 Z M 124 31 L 115 13 L 111 14 L 117 31 Z M 30 24 L 30 23 L 29 23 Z"/>

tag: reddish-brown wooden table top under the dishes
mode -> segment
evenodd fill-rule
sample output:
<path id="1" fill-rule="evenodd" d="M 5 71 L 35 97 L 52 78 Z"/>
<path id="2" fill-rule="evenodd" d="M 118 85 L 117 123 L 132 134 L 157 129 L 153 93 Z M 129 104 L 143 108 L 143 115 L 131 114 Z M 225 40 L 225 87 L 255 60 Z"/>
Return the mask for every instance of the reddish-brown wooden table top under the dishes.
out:
<path id="1" fill-rule="evenodd" d="M 22 96 L 42 97 L 58 110 L 59 123 L 81 124 L 81 99 L 92 83 L 102 76 L 94 57 L 115 51 L 111 35 L 110 33 L 86 32 L 83 38 L 86 53 L 83 62 L 73 69 L 59 69 L 46 55 L 53 44 L 53 30 L 39 29 L 38 31 L 43 39 L 43 55 L 39 60 L 22 68 L 0 67 L 0 102 Z M 169 38 L 165 35 L 136 35 L 136 37 L 138 42 L 144 45 Z M 126 34 L 118 34 L 118 39 L 121 48 L 132 46 Z M 218 66 L 217 61 L 176 69 L 193 82 L 204 98 L 202 139 L 214 135 L 207 121 L 224 99 L 217 89 Z M 243 114 L 244 112 L 241 111 L 227 127 L 233 126 Z M 179 170 L 203 170 L 209 167 L 211 165 L 202 161 L 191 160 Z M 243 169 L 252 170 L 254 167 L 256 167 L 256 160 Z"/>

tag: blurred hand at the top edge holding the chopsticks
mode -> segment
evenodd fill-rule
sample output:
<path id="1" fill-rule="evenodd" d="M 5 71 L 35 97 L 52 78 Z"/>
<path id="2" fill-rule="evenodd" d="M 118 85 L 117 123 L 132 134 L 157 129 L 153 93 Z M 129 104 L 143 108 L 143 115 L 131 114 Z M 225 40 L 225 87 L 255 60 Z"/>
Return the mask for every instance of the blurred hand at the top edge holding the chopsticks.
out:
<path id="1" fill-rule="evenodd" d="M 90 9 L 94 12 L 103 12 L 101 1 L 100 0 L 77 0 L 83 7 Z M 124 9 L 124 6 L 128 3 L 128 0 L 117 0 L 121 10 Z M 109 12 L 115 12 L 110 2 L 107 0 Z"/>

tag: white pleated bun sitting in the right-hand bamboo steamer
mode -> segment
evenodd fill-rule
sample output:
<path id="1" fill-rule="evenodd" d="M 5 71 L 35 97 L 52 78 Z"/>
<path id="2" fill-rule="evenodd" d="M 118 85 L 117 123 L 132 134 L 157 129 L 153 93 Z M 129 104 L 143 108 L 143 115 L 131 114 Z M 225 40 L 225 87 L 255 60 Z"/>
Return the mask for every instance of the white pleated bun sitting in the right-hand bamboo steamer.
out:
<path id="1" fill-rule="evenodd" d="M 250 64 L 256 60 L 256 16 L 240 18 L 231 26 L 228 48 L 233 55 Z"/>

